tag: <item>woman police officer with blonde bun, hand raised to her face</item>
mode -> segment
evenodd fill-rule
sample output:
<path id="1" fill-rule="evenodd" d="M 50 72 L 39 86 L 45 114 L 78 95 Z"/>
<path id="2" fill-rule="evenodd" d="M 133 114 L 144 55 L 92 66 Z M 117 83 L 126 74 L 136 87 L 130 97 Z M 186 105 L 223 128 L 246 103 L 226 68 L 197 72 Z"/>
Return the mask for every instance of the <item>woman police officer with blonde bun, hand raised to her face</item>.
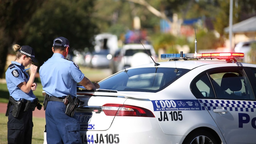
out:
<path id="1" fill-rule="evenodd" d="M 37 89 L 34 83 L 37 73 L 37 66 L 31 62 L 37 62 L 33 48 L 28 45 L 20 46 L 15 44 L 12 49 L 16 52 L 15 61 L 5 72 L 7 88 L 10 93 L 7 105 L 7 140 L 8 144 L 31 144 L 32 140 L 32 111 L 42 105 L 33 94 Z M 25 67 L 30 65 L 30 76 L 25 71 Z"/>

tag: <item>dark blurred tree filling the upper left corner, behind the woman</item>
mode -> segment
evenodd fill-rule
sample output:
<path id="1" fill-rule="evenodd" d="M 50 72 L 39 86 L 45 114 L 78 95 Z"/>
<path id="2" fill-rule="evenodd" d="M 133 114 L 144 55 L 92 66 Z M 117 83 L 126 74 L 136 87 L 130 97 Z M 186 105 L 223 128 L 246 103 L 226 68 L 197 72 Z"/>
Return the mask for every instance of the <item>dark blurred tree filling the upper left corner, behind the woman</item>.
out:
<path id="1" fill-rule="evenodd" d="M 23 26 L 42 4 L 43 0 L 0 0 L 0 77 L 5 73 L 8 51 L 12 44 L 20 43 Z M 24 44 L 25 45 L 25 44 Z"/>

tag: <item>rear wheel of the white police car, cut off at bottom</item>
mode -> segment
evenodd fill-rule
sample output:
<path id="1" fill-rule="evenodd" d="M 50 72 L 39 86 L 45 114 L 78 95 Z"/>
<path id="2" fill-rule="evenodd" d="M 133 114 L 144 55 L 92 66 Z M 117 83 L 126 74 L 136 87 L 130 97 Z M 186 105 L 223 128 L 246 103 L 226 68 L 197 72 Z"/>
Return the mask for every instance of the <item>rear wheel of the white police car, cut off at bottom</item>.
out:
<path id="1" fill-rule="evenodd" d="M 187 135 L 182 144 L 217 144 L 217 141 L 210 132 L 200 129 Z"/>

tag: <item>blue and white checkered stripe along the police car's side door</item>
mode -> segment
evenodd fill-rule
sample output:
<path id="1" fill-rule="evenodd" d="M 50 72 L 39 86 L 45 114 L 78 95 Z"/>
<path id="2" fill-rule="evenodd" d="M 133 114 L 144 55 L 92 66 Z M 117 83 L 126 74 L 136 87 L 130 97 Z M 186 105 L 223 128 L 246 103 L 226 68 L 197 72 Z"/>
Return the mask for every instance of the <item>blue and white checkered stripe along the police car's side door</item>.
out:
<path id="1" fill-rule="evenodd" d="M 238 101 L 238 100 L 215 100 L 215 99 L 198 99 L 202 105 L 202 110 L 214 110 L 218 107 L 224 107 L 229 111 L 254 112 L 256 110 L 255 101 Z"/>

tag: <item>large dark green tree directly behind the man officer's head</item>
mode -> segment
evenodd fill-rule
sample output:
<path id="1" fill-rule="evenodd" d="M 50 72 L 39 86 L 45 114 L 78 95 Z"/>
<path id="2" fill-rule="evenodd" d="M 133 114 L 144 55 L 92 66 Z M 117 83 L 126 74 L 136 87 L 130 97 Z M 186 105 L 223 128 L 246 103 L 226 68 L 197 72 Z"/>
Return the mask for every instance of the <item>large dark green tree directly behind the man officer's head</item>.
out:
<path id="1" fill-rule="evenodd" d="M 92 40 L 98 33 L 92 18 L 94 1 L 90 0 L 48 0 L 31 20 L 26 23 L 23 31 L 24 43 L 35 49 L 39 65 L 53 54 L 53 39 L 66 37 L 71 50 L 92 48 Z"/>

